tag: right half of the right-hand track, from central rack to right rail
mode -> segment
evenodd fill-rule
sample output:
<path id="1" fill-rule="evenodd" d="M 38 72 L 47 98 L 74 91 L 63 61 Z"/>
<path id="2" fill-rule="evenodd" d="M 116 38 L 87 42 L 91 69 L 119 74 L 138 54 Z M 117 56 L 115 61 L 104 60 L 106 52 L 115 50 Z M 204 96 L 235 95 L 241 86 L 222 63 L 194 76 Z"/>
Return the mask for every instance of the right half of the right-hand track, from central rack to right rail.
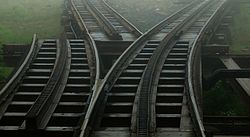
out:
<path id="1" fill-rule="evenodd" d="M 208 22 L 211 23 L 215 13 L 220 13 L 218 9 L 223 9 L 224 3 L 225 1 L 212 1 L 200 7 L 202 10 L 196 13 L 198 16 L 193 16 L 187 26 L 181 29 L 179 38 L 164 40 L 162 47 L 159 47 L 149 60 L 142 84 L 138 89 L 140 91 L 137 112 L 139 136 L 145 134 L 195 136 L 193 131 L 196 136 L 205 136 L 205 129 L 194 98 L 196 95 L 186 86 L 188 84 L 186 76 L 190 73 L 186 71 L 186 66 L 188 57 L 198 53 L 190 53 L 189 48 L 194 47 L 196 38 L 203 36 L 200 32 L 207 27 Z M 195 70 L 191 72 L 197 74 Z M 144 99 L 144 96 L 147 98 Z M 146 113 L 143 112 L 146 110 L 151 112 L 149 113 L 151 115 L 145 116 Z M 147 124 L 148 126 L 145 126 Z"/>

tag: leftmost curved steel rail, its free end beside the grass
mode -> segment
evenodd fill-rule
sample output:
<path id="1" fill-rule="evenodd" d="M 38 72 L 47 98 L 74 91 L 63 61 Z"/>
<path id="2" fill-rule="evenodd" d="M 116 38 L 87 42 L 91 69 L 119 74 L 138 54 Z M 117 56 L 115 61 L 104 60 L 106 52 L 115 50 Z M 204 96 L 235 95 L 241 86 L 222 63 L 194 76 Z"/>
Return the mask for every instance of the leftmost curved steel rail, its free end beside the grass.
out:
<path id="1" fill-rule="evenodd" d="M 23 63 L 19 67 L 19 69 L 15 72 L 12 78 L 5 84 L 5 86 L 0 91 L 0 104 L 2 104 L 9 93 L 14 89 L 14 87 L 18 84 L 19 80 L 23 77 L 24 72 L 27 70 L 27 67 L 31 63 L 31 60 L 35 56 L 37 35 L 33 35 L 33 40 L 29 49 L 27 56 L 25 57 Z"/>

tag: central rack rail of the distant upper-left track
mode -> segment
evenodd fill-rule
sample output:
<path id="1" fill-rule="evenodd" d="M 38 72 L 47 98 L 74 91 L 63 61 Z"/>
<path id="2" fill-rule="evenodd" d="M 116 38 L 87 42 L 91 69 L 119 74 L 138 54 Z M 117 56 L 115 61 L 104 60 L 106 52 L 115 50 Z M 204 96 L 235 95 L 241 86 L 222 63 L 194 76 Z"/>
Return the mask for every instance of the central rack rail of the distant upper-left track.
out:
<path id="1" fill-rule="evenodd" d="M 107 35 L 110 36 L 110 38 L 115 40 L 122 40 L 122 36 L 117 32 L 115 27 L 111 24 L 111 22 L 91 3 L 89 0 L 83 0 L 83 3 L 89 7 L 89 10 L 92 12 L 92 14 L 96 15 L 96 18 L 103 29 L 106 31 Z"/>

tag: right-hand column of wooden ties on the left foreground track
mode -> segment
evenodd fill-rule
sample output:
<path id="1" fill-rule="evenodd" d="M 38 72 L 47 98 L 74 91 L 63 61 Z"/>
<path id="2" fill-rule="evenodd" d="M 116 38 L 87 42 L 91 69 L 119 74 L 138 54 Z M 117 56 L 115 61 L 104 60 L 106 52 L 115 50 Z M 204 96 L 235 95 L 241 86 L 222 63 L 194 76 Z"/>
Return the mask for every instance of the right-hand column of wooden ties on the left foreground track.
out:
<path id="1" fill-rule="evenodd" d="M 91 95 L 91 71 L 88 65 L 86 42 L 84 40 L 69 40 L 68 61 L 64 78 L 61 81 L 57 95 L 52 105 L 53 109 L 46 116 L 44 130 L 47 136 L 73 136 Z"/>

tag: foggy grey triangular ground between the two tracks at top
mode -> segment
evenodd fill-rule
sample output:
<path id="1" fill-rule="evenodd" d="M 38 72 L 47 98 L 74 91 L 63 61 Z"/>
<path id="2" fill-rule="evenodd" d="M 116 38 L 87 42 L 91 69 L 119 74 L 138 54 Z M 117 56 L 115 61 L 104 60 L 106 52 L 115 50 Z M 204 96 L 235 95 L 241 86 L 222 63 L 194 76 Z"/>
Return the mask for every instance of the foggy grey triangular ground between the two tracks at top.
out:
<path id="1" fill-rule="evenodd" d="M 118 12 L 145 32 L 191 0 L 107 0 Z"/>

